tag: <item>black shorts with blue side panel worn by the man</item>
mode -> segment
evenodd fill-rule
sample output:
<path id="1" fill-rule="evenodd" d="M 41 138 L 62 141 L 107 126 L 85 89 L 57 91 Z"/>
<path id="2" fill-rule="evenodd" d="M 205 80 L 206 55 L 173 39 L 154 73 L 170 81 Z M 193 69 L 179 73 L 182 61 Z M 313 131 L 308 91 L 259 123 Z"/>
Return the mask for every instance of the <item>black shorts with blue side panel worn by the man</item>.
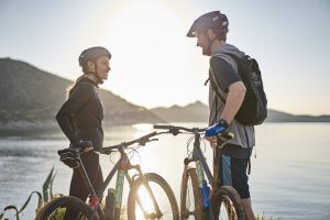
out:
<path id="1" fill-rule="evenodd" d="M 219 178 L 222 185 L 234 187 L 242 199 L 250 198 L 248 185 L 249 158 L 235 158 L 227 155 L 220 156 Z"/>

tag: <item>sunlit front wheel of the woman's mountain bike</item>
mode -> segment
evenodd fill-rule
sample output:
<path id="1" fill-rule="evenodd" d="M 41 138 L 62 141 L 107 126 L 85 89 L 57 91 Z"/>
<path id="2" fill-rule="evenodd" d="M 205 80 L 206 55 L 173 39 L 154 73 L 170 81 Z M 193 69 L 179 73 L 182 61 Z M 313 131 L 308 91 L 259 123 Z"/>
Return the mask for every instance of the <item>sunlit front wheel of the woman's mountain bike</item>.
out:
<path id="1" fill-rule="evenodd" d="M 178 220 L 177 202 L 167 182 L 160 175 L 152 173 L 144 174 L 144 177 L 151 190 L 141 177 L 133 183 L 128 199 L 128 219 Z M 156 207 L 160 208 L 160 211 Z"/>

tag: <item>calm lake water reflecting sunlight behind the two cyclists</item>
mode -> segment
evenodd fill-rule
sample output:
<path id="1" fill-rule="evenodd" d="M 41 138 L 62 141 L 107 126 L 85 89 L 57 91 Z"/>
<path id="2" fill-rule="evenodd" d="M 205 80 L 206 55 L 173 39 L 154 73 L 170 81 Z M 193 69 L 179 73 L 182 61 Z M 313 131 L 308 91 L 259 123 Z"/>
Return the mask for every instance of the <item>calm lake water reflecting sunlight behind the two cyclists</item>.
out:
<path id="1" fill-rule="evenodd" d="M 183 124 L 205 127 L 205 124 Z M 106 145 L 132 140 L 151 131 L 151 125 L 109 128 Z M 282 219 L 330 219 L 330 124 L 266 123 L 256 127 L 256 158 L 252 157 L 250 189 L 256 213 Z M 190 135 L 163 135 L 139 148 L 133 162 L 144 172 L 155 172 L 167 179 L 179 202 L 183 158 Z M 20 208 L 33 190 L 42 185 L 53 166 L 57 170 L 54 193 L 68 194 L 72 170 L 58 162 L 57 150 L 68 142 L 59 132 L 0 141 L 0 211 L 6 206 Z M 191 145 L 190 145 L 191 147 Z M 204 148 L 204 147 L 202 147 Z M 208 162 L 211 151 L 206 145 Z M 255 151 L 253 152 L 253 155 Z M 116 156 L 111 160 L 114 162 Z M 103 175 L 112 165 L 101 156 Z M 113 186 L 113 183 L 111 183 Z M 128 188 L 125 187 L 125 191 Z M 127 194 L 123 201 L 127 201 Z M 22 219 L 35 216 L 36 197 Z M 6 217 L 14 219 L 13 211 Z"/>

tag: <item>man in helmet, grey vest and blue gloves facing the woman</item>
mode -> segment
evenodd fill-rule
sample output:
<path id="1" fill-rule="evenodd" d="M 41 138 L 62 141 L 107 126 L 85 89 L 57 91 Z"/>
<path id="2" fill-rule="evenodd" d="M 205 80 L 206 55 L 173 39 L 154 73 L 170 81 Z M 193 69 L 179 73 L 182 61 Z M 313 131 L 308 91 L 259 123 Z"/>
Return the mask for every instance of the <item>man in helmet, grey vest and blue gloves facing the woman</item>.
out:
<path id="1" fill-rule="evenodd" d="M 210 56 L 210 128 L 206 132 L 206 139 L 217 144 L 218 133 L 230 131 L 234 134 L 234 139 L 220 146 L 220 162 L 215 161 L 220 163 L 220 182 L 238 190 L 248 219 L 254 220 L 246 175 L 255 143 L 254 128 L 243 125 L 234 118 L 244 100 L 246 88 L 238 74 L 238 64 L 228 55 L 230 53 L 243 57 L 244 53 L 226 43 L 228 24 L 227 16 L 220 11 L 209 12 L 193 23 L 187 36 L 197 37 L 197 46 L 202 48 L 204 55 Z"/>

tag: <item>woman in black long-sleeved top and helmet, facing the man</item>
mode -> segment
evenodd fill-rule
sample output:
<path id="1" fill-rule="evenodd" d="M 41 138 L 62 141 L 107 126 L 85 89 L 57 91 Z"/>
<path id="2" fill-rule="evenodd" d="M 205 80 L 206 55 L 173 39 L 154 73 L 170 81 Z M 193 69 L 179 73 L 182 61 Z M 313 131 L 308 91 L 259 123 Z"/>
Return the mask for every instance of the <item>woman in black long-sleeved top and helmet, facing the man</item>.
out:
<path id="1" fill-rule="evenodd" d="M 79 56 L 82 75 L 76 80 L 68 94 L 68 99 L 56 114 L 56 120 L 69 139 L 69 147 L 82 147 L 81 161 L 87 175 L 96 189 L 103 183 L 99 155 L 103 142 L 103 106 L 99 98 L 98 85 L 108 79 L 111 54 L 105 47 L 90 47 Z M 69 195 L 86 200 L 88 190 L 78 169 L 74 169 Z M 66 211 L 64 219 L 76 219 L 77 213 Z"/>

